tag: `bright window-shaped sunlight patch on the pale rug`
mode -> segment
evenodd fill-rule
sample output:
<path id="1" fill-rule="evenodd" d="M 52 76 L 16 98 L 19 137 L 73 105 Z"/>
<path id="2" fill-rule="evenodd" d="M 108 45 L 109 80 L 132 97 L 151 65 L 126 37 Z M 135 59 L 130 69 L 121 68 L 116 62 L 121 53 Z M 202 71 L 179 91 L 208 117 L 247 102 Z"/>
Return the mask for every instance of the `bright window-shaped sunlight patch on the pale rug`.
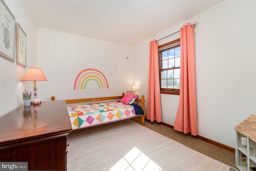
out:
<path id="1" fill-rule="evenodd" d="M 142 171 L 142 170 L 162 171 L 162 167 L 152 161 L 147 155 L 138 148 L 131 149 L 122 159 L 120 159 L 110 171 Z"/>

